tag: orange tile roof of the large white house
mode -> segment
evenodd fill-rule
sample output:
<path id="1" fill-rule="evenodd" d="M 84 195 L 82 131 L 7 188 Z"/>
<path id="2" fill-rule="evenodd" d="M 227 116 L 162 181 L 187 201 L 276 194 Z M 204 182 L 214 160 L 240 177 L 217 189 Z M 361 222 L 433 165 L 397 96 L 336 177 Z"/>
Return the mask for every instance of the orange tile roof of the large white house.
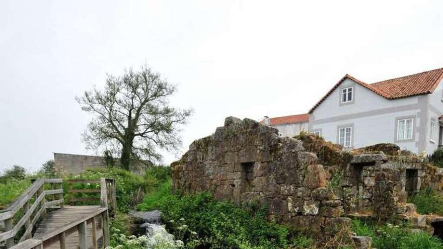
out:
<path id="1" fill-rule="evenodd" d="M 443 68 L 388 79 L 373 84 L 366 84 L 365 82 L 346 74 L 325 96 L 323 96 L 322 99 L 320 99 L 319 102 L 317 102 L 317 104 L 314 105 L 313 108 L 311 108 L 311 110 L 309 110 L 309 113 L 312 113 L 314 109 L 317 108 L 346 78 L 349 78 L 386 99 L 392 100 L 421 94 L 431 94 L 443 78 Z"/>

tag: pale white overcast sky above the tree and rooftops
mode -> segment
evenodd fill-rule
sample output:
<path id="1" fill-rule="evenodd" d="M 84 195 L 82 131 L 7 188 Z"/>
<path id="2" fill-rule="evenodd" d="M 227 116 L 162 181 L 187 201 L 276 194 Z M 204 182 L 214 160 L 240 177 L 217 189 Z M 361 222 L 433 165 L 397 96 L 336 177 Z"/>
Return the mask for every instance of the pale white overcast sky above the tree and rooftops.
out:
<path id="1" fill-rule="evenodd" d="M 306 113 L 345 73 L 443 67 L 441 13 L 442 1 L 1 0 L 0 171 L 93 154 L 75 96 L 105 73 L 146 61 L 178 84 L 173 104 L 195 109 L 184 152 L 227 116 Z"/>

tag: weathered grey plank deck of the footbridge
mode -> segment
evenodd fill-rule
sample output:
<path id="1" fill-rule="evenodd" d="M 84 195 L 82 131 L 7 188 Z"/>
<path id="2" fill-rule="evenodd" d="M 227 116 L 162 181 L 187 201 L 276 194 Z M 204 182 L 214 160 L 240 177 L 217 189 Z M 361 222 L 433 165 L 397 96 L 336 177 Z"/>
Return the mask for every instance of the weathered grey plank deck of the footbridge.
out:
<path id="1" fill-rule="evenodd" d="M 82 219 L 85 216 L 94 213 L 99 209 L 100 206 L 64 206 L 58 210 L 54 210 L 49 212 L 46 217 L 42 220 L 38 229 L 36 230 L 33 237 L 38 238 L 40 236 L 44 236 L 46 233 L 57 230 L 73 221 L 77 221 Z M 95 219 L 95 224 L 93 222 L 87 223 L 87 234 L 88 234 L 88 247 L 94 248 L 93 244 L 93 227 L 96 230 L 96 238 L 101 238 L 103 235 L 102 230 L 102 220 Z M 79 248 L 79 232 L 77 229 L 72 229 L 71 231 L 67 231 L 65 233 L 65 241 L 66 241 L 66 249 L 68 248 Z M 99 239 L 97 243 L 97 247 L 101 248 L 103 245 L 103 239 Z M 47 240 L 44 243 L 45 249 L 59 249 L 60 241 L 59 238 L 55 237 L 54 239 Z"/>

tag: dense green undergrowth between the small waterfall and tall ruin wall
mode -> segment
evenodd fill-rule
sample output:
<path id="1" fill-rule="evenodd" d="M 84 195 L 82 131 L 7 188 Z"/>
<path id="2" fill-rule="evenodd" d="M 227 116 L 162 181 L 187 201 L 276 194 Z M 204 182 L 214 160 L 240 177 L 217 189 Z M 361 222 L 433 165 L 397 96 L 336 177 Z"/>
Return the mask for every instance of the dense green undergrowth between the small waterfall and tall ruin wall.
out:
<path id="1" fill-rule="evenodd" d="M 266 209 L 245 210 L 227 201 L 216 201 L 208 193 L 167 195 L 141 210 L 159 208 L 167 227 L 175 233 L 174 221 L 186 217 L 190 230 L 197 232 L 209 248 L 283 248 L 289 246 L 290 229 L 266 220 Z M 191 237 L 183 236 L 184 242 Z"/>

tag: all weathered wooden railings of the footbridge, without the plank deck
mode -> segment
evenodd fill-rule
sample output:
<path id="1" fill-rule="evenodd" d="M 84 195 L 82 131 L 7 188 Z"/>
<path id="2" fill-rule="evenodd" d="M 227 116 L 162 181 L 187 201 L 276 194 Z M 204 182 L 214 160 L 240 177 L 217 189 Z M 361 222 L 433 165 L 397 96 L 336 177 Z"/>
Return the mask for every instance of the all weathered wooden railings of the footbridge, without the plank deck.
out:
<path id="1" fill-rule="evenodd" d="M 5 245 L 10 249 L 33 249 L 43 248 L 54 241 L 58 241 L 61 249 L 66 248 L 66 236 L 74 232 L 79 234 L 80 249 L 98 248 L 98 241 L 102 238 L 103 247 L 109 246 L 109 214 L 114 214 L 116 201 L 115 180 L 101 178 L 100 180 L 67 180 L 69 185 L 68 202 L 78 203 L 86 201 L 97 201 L 100 207 L 93 213 L 82 217 L 79 220 L 65 224 L 61 227 L 47 232 L 38 237 L 32 237 L 32 229 L 36 222 L 46 215 L 46 208 L 63 207 L 63 188 L 61 179 L 36 179 L 19 198 L 17 198 L 7 209 L 0 210 L 0 221 L 5 223 L 5 232 L 0 233 L 0 242 L 5 241 Z M 98 189 L 75 189 L 75 184 L 98 184 Z M 50 184 L 50 190 L 45 190 L 45 184 Z M 100 193 L 100 197 L 83 197 L 94 199 L 75 198 L 71 195 L 75 193 Z M 48 196 L 48 198 L 46 198 Z M 19 212 L 19 211 L 22 212 Z M 109 210 L 109 211 L 108 211 Z M 22 217 L 19 217 L 23 215 Z M 14 220 L 19 221 L 14 225 Z M 97 220 L 101 220 L 102 236 L 97 234 Z M 91 238 L 92 244 L 88 245 L 87 224 L 92 223 Z M 14 245 L 14 237 L 22 227 L 25 227 L 24 234 Z"/>

